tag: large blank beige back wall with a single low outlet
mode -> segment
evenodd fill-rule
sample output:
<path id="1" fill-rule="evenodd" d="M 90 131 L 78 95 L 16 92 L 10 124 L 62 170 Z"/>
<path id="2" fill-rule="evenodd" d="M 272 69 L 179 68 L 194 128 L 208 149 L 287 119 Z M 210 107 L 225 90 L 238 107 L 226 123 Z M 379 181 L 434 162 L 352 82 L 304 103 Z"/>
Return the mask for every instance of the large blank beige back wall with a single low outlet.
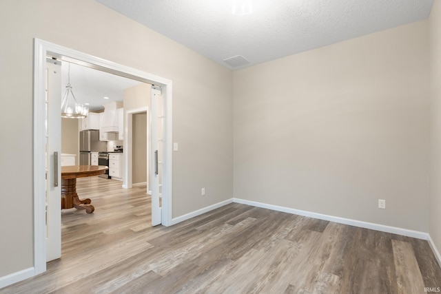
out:
<path id="1" fill-rule="evenodd" d="M 427 232 L 428 53 L 420 21 L 234 72 L 234 196 Z"/>

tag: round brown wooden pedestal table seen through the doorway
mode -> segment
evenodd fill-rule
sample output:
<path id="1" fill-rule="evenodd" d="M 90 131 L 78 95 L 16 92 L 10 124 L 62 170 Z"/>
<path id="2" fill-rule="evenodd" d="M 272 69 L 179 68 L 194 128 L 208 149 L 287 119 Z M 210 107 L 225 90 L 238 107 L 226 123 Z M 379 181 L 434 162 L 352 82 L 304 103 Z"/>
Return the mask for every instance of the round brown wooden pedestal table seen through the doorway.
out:
<path id="1" fill-rule="evenodd" d="M 94 212 L 92 200 L 81 200 L 76 193 L 76 178 L 99 176 L 109 169 L 104 165 L 68 165 L 61 167 L 61 209 L 85 209 L 87 213 Z"/>

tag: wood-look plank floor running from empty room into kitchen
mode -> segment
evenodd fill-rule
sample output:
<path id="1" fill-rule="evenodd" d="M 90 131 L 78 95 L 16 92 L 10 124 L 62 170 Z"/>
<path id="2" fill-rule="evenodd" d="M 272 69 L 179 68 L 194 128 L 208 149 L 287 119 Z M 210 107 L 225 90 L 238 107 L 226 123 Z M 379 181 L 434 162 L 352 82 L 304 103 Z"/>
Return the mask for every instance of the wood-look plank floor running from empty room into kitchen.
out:
<path id="1" fill-rule="evenodd" d="M 425 293 L 424 240 L 243 204 L 150 227 L 145 188 L 79 178 L 95 211 L 62 211 L 62 257 L 0 293 Z"/>

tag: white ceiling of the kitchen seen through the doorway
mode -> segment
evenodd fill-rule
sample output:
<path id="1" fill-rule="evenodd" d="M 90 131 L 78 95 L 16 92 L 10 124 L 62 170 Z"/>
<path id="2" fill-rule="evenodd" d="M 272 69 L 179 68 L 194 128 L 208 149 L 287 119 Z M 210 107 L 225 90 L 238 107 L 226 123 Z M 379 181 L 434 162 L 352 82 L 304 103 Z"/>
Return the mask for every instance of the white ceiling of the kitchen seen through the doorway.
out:
<path id="1" fill-rule="evenodd" d="M 68 84 L 68 64 L 65 61 L 61 62 L 63 95 L 65 86 Z M 123 91 L 140 83 L 130 78 L 70 63 L 70 85 L 76 101 L 81 104 L 89 103 L 90 105 L 87 106 L 92 111 L 103 109 L 103 104 L 110 101 L 123 101 Z"/>

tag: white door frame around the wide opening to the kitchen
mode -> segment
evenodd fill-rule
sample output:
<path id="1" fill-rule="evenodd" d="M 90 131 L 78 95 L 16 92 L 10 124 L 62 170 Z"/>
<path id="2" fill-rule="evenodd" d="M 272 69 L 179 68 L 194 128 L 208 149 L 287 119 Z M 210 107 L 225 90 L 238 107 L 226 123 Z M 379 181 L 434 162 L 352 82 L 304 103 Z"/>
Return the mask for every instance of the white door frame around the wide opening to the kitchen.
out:
<path id="1" fill-rule="evenodd" d="M 172 224 L 172 81 L 90 54 L 34 39 L 34 275 L 46 270 L 45 242 L 45 63 L 46 56 L 158 85 L 165 101 L 163 202 L 161 222 Z M 61 97 L 60 97 L 61 98 Z M 61 140 L 61 138 L 60 138 Z M 61 208 L 60 208 L 61 209 Z"/>

